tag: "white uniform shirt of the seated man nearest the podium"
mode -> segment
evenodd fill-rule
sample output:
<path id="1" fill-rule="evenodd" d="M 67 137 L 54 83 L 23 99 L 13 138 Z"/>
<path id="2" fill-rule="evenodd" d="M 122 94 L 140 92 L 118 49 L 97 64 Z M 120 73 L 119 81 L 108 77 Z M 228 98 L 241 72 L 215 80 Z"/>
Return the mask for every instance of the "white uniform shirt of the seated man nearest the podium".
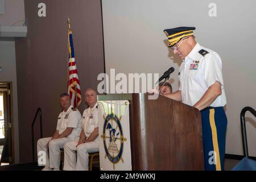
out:
<path id="1" fill-rule="evenodd" d="M 82 129 L 84 129 L 84 133 L 86 138 L 92 134 L 94 129 L 98 127 L 98 109 L 97 103 L 92 107 L 88 107 L 82 113 Z M 95 142 L 99 141 L 99 136 L 94 139 Z"/>

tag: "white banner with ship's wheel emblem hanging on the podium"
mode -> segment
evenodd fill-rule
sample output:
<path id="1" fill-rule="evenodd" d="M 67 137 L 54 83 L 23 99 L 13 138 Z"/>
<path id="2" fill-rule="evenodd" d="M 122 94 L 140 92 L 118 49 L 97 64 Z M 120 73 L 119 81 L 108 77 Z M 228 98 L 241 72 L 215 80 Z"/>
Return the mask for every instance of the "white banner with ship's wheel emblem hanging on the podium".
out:
<path id="1" fill-rule="evenodd" d="M 101 170 L 131 170 L 129 101 L 98 101 Z"/>

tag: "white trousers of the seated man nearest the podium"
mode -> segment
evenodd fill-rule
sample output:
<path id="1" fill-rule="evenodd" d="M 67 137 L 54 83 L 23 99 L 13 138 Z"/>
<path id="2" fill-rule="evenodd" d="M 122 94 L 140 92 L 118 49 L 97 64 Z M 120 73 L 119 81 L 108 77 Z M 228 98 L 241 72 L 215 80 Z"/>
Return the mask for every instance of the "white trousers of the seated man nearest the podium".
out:
<path id="1" fill-rule="evenodd" d="M 65 171 L 88 171 L 89 152 L 98 152 L 98 142 L 86 142 L 77 146 L 78 142 L 64 144 Z M 77 146 L 77 147 L 76 147 Z M 76 152 L 77 151 L 77 159 Z"/>

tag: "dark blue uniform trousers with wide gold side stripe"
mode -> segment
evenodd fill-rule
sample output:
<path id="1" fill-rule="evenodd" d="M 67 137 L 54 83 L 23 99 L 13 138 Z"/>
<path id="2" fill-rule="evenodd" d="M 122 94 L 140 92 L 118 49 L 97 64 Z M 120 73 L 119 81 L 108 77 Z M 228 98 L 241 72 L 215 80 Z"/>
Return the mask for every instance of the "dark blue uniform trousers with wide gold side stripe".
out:
<path id="1" fill-rule="evenodd" d="M 224 170 L 226 126 L 223 107 L 207 107 L 201 110 L 204 167 L 207 171 Z"/>

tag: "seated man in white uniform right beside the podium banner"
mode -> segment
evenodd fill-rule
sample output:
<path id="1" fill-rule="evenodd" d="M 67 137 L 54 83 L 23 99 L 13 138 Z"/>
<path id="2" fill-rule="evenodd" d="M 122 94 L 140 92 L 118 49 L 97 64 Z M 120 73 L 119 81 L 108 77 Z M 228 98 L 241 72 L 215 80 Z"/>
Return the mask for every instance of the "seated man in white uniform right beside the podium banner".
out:
<path id="1" fill-rule="evenodd" d="M 88 109 L 82 114 L 82 131 L 79 140 L 64 145 L 64 170 L 88 171 L 89 152 L 98 152 L 97 93 L 93 89 L 85 92 Z M 77 151 L 77 158 L 76 158 Z"/>

